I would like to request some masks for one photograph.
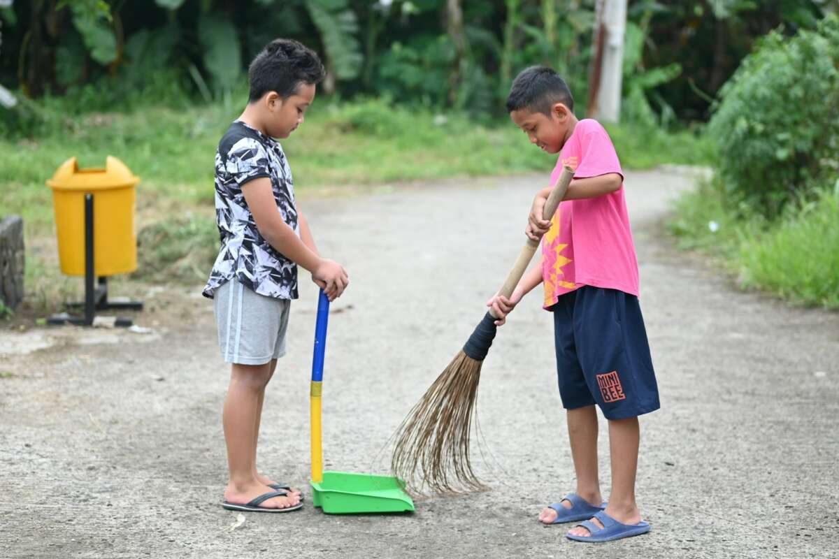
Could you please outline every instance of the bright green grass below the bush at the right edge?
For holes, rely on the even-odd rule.
[[[732,208],[715,182],[683,195],[668,223],[680,247],[713,256],[740,287],[792,303],[839,308],[839,191],[768,221]]]

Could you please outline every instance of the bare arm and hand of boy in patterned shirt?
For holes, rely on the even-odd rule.
[[[259,234],[290,261],[308,270],[315,283],[333,300],[340,297],[349,282],[347,272],[336,261],[320,258],[284,222],[274,201],[271,179],[260,177],[242,184],[242,194],[257,224]],[[308,230],[308,226],[306,227]],[[303,234],[303,231],[300,231]],[[309,232],[311,239],[311,232]],[[314,245],[314,241],[312,241]]]

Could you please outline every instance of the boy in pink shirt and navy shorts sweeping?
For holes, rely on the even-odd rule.
[[[550,221],[542,209],[550,187],[534,199],[525,233],[542,239],[539,265],[510,298],[488,303],[498,325],[524,294],[542,283],[543,307],[554,313],[560,398],[566,409],[576,492],[539,515],[544,524],[578,522],[566,535],[610,541],[649,531],[635,502],[638,416],[659,408],[644,318],[638,307],[638,261],[623,196],[623,171],[606,130],[578,121],[571,91],[550,68],[534,66],[513,81],[507,110],[530,142],[559,153],[575,169]],[[597,474],[597,411],[609,424],[612,494],[603,502]]]

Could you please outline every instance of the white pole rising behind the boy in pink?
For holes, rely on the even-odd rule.
[[[604,122],[619,122],[621,82],[623,78],[623,34],[627,23],[627,0],[606,0],[603,6],[606,40],[600,89],[597,92],[597,115]]]

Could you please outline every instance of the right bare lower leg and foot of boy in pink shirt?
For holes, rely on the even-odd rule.
[[[638,469],[640,427],[638,417],[609,420],[609,450],[612,453],[612,494],[606,514],[622,524],[638,524],[641,512],[635,503],[635,473]],[[600,520],[591,519],[602,527]],[[575,536],[588,536],[586,528],[569,531]]]

